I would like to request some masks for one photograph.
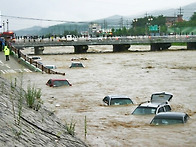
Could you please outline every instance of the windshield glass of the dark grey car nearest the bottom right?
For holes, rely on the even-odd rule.
[[[154,118],[151,124],[154,125],[172,125],[172,124],[181,124],[183,123],[182,119],[162,119],[162,118]]]

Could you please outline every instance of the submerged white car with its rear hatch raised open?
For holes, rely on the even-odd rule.
[[[149,115],[171,111],[171,107],[168,101],[170,101],[172,97],[172,94],[165,92],[152,94],[151,101],[139,104],[139,106],[132,112],[132,114]]]

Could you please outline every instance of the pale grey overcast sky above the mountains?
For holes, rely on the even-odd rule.
[[[2,15],[64,21],[92,21],[113,15],[132,16],[154,10],[180,8],[196,0],[1,0]],[[9,30],[45,27],[57,22],[9,20]]]

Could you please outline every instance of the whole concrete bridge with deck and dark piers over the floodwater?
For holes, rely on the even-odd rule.
[[[43,54],[44,47],[48,46],[74,46],[75,53],[85,53],[90,45],[113,45],[113,52],[126,51],[133,44],[150,44],[151,51],[168,49],[171,43],[186,43],[187,49],[196,49],[196,36],[137,36],[137,37],[114,37],[94,38],[91,40],[77,39],[75,41],[59,41],[57,39],[43,40],[16,40],[13,44],[16,48],[34,47],[35,54]]]

